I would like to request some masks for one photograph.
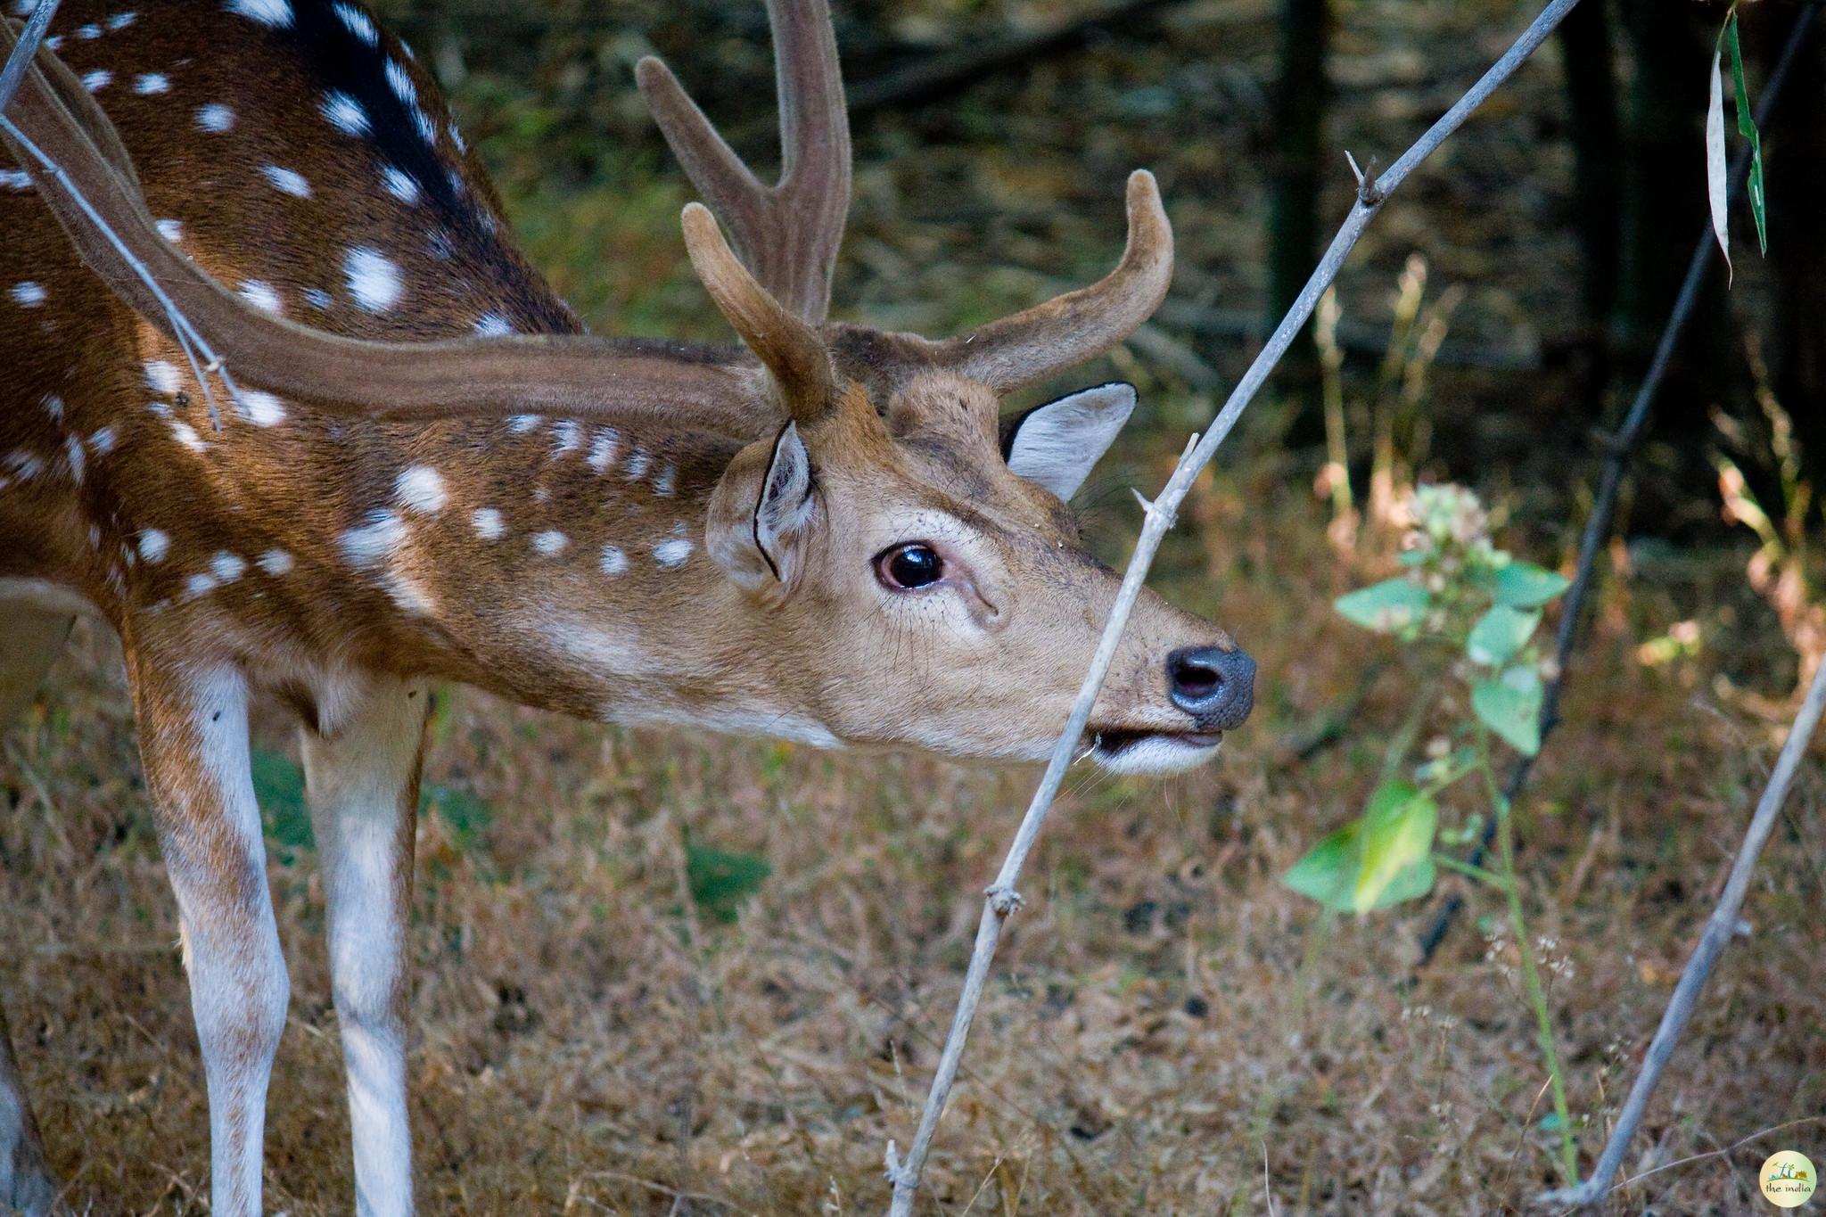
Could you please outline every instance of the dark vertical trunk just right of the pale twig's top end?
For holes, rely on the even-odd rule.
[[[1579,239],[1579,330],[1572,343],[1574,387],[1587,418],[1596,418],[1611,378],[1611,323],[1616,308],[1621,135],[1611,15],[1603,0],[1585,0],[1559,26],[1567,64],[1574,184],[1572,226]]]

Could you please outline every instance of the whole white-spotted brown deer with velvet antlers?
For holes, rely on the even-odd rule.
[[[1043,759],[1118,588],[1065,500],[1134,390],[999,403],[1132,334],[1172,237],[1138,172],[1127,248],[1092,286],[946,339],[831,321],[851,179],[836,40],[825,0],[771,0],[778,184],[665,66],[637,71],[708,203],[683,212],[685,252],[740,345],[592,338],[360,4],[137,2],[64,5],[0,122],[0,712],[75,613],[119,635],[219,1217],[259,1212],[289,1000],[248,702],[296,712],[356,1210],[405,1213],[429,684]],[[1222,629],[1145,593],[1085,752],[1118,772],[1207,761],[1253,679]],[[0,1201],[53,1197],[4,1047]]]

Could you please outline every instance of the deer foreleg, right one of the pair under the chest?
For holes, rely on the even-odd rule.
[[[429,701],[420,684],[376,681],[352,715],[325,733],[303,732],[360,1217],[413,1212],[405,923]]]

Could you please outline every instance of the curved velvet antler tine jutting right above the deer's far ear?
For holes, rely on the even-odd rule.
[[[940,367],[1013,392],[1094,359],[1154,316],[1172,281],[1172,226],[1147,170],[1128,175],[1128,244],[1116,270],[971,334],[933,343]]]

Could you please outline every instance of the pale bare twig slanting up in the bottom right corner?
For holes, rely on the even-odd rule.
[[[1737,918],[1744,909],[1744,896],[1749,892],[1749,879],[1757,870],[1757,859],[1762,856],[1762,847],[1769,841],[1775,817],[1788,799],[1788,788],[1795,781],[1800,757],[1808,752],[1808,741],[1813,739],[1813,730],[1821,723],[1822,710],[1826,710],[1826,664],[1821,664],[1813,673],[1813,684],[1808,686],[1808,695],[1795,713],[1795,724],[1788,728],[1788,743],[1782,744],[1782,755],[1775,761],[1769,785],[1762,788],[1762,797],[1757,801],[1757,814],[1749,819],[1744,847],[1738,848],[1737,861],[1731,863],[1731,878],[1724,885],[1724,894],[1718,896],[1718,905],[1713,909],[1711,920],[1705,921],[1700,945],[1693,949],[1693,958],[1687,960],[1687,967],[1680,973],[1680,983],[1674,985],[1674,996],[1669,998],[1667,1009],[1662,1013],[1662,1025],[1656,1027],[1654,1038],[1649,1042],[1649,1055],[1643,1056],[1642,1073],[1636,1075],[1636,1084],[1629,1087],[1629,1098],[1623,1100],[1623,1111],[1611,1131],[1611,1140],[1605,1142],[1603,1153],[1598,1155],[1598,1166],[1592,1168],[1583,1184],[1548,1191],[1541,1197],[1543,1202],[1579,1208],[1603,1199],[1611,1188],[1611,1179],[1623,1162],[1623,1149],[1629,1148],[1629,1139],[1636,1135],[1636,1126],[1642,1124],[1649,1095],[1654,1093],[1654,1084],[1662,1080],[1662,1069],[1667,1067],[1667,1058],[1674,1055],[1680,1033],[1687,1029],[1687,1022],[1693,1018],[1700,989],[1705,987],[1705,980],[1711,978],[1718,956],[1724,954],[1726,945],[1729,945],[1731,936],[1737,932]]]

